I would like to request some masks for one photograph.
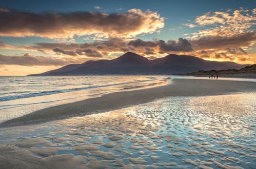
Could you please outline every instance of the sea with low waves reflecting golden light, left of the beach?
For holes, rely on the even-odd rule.
[[[0,76],[0,122],[103,94],[165,85],[166,76]]]

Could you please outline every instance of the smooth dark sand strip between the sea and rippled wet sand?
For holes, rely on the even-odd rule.
[[[30,125],[60,120],[75,116],[104,113],[111,110],[126,108],[168,96],[208,96],[235,92],[256,91],[255,82],[207,80],[207,79],[172,79],[165,86],[153,88],[120,91],[56,105],[54,107],[35,111],[0,123],[0,128],[19,125]]]

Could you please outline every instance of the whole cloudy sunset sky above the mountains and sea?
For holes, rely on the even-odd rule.
[[[256,64],[256,1],[0,1],[0,75],[130,51]]]

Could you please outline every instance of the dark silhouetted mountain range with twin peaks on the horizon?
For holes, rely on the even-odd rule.
[[[170,54],[149,60],[127,52],[112,60],[89,60],[83,64],[71,64],[62,68],[33,75],[160,75],[190,73],[199,70],[241,69],[231,61],[209,61],[195,56]]]

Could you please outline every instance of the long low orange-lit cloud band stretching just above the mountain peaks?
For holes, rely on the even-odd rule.
[[[246,36],[240,37],[242,39],[246,39]],[[230,43],[228,43],[228,41],[230,41]],[[232,41],[233,40],[231,39],[227,39],[227,41],[225,41],[223,37],[221,37],[221,39],[212,37],[211,40],[202,38],[196,41],[189,41],[182,38],[180,38],[178,41],[164,41],[160,39],[145,41],[142,39],[127,40],[123,38],[111,38],[108,40],[94,41],[92,43],[83,44],[36,43],[35,45],[26,45],[13,48],[23,49],[26,51],[39,51],[41,53],[48,54],[55,51],[58,53],[58,55],[55,56],[56,58],[62,58],[62,55],[66,55],[67,57],[65,60],[67,60],[69,63],[81,63],[85,61],[85,59],[89,59],[89,57],[90,59],[101,59],[103,57],[104,59],[113,59],[125,52],[131,51],[146,57],[150,57],[151,59],[162,57],[170,53],[176,53],[193,55],[208,60],[237,61],[242,64],[254,64],[256,61],[256,55],[246,52],[240,47],[241,44],[235,46],[236,43],[234,43],[234,45],[232,45]],[[4,43],[1,44],[3,46],[7,46]],[[0,48],[2,48],[1,44]],[[9,46],[8,49],[11,49],[10,47],[11,46]],[[70,57],[70,55],[72,57]],[[246,59],[239,59],[238,57],[244,57]]]

